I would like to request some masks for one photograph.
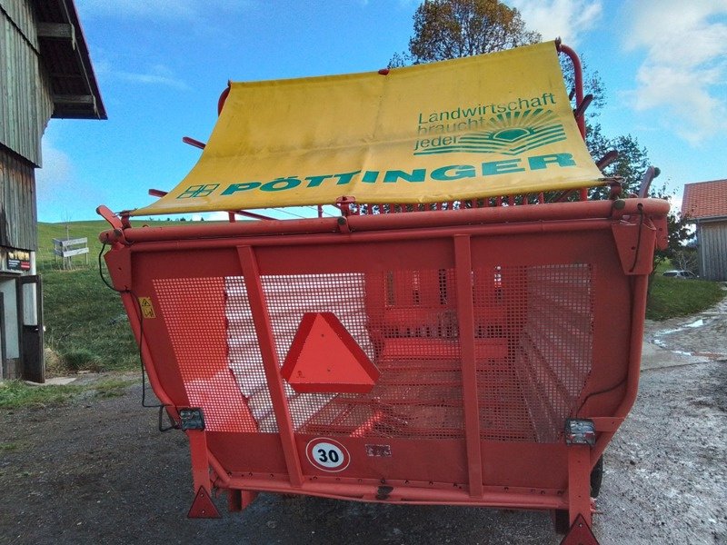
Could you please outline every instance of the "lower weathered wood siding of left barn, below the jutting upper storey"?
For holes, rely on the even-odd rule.
[[[0,146],[0,246],[37,249],[35,168]]]

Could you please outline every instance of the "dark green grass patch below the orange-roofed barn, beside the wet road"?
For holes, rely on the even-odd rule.
[[[722,301],[725,292],[719,282],[667,278],[661,272],[652,277],[646,317],[666,320],[702,312]]]

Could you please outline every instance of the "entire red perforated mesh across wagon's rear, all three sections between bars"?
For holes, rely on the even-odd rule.
[[[591,369],[593,271],[587,265],[473,271],[481,437],[557,441]],[[261,278],[279,363],[305,312],[334,312],[381,371],[366,394],[296,393],[303,433],[463,438],[453,270]],[[156,281],[190,403],[214,431],[275,432],[243,277]],[[194,334],[200,332],[204,334]]]

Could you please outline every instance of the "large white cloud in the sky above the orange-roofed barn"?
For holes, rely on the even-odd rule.
[[[726,130],[727,0],[631,0],[624,11],[626,51],[646,53],[633,108],[666,108],[662,121],[691,144]]]

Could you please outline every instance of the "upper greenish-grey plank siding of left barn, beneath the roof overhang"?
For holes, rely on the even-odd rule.
[[[40,141],[53,114],[29,0],[0,0],[0,144],[41,166]]]

